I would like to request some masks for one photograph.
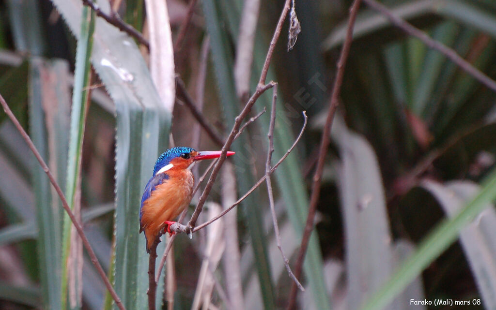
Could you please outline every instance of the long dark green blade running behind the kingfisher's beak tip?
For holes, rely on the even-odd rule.
[[[211,55],[215,66],[220,98],[224,107],[227,124],[231,127],[234,124],[235,117],[239,113],[236,108],[236,103],[239,102],[239,99],[236,96],[234,85],[233,59],[231,57],[230,45],[225,33],[221,31],[222,21],[219,19],[217,5],[213,0],[206,0],[203,2],[203,11],[205,12],[207,31],[211,40]],[[243,146],[247,145],[246,136],[240,136],[232,145],[232,149],[239,154],[233,158],[236,164],[236,170],[238,173],[244,171],[243,177],[237,180],[238,191],[240,193],[246,193],[251,187],[251,184],[254,183],[248,161],[240,156],[246,153]],[[262,222],[261,204],[256,202],[253,195],[250,195],[242,203],[242,207],[248,220],[247,225],[252,241],[263,304],[266,310],[275,309],[275,294],[268,260],[265,231],[259,225]]]

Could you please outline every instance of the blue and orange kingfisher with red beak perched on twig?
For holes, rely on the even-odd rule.
[[[221,153],[176,147],[158,157],[152,177],[145,186],[139,210],[139,232],[145,232],[146,252],[150,253],[162,229],[167,228],[170,232],[169,226],[175,223],[173,220],[191,202],[194,179],[190,169],[194,162],[217,158]],[[227,152],[227,156],[234,154]]]

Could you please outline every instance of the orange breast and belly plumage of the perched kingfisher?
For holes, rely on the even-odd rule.
[[[153,245],[165,221],[172,221],[189,205],[193,192],[193,175],[188,169],[167,171],[169,179],[155,187],[142,207],[141,227],[147,248]]]

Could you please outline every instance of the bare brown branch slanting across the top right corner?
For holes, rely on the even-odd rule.
[[[392,13],[386,6],[380,4],[379,2],[375,0],[364,0],[364,2],[372,9],[378,11],[380,14],[384,15],[387,19],[389,19],[391,24],[400,28],[407,34],[418,38],[431,49],[441,52],[446,57],[451,59],[451,61],[456,63],[460,68],[462,68],[462,70],[472,75],[475,79],[477,79],[482,84],[486,85],[489,89],[496,92],[496,82],[493,79],[491,79],[489,76],[481,72],[479,69],[474,67],[470,62],[463,59],[453,49],[448,48],[447,46],[445,46],[444,44],[438,41],[435,41],[422,30],[415,28],[414,26],[412,26],[412,24],[409,24],[403,19],[395,16],[394,13]]]

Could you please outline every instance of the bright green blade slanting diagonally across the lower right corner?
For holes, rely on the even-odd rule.
[[[362,310],[379,310],[398,295],[424,268],[446,250],[460,231],[473,221],[496,198],[496,169],[482,184],[482,190],[456,215],[439,223],[407,258],[391,279],[364,305]]]

